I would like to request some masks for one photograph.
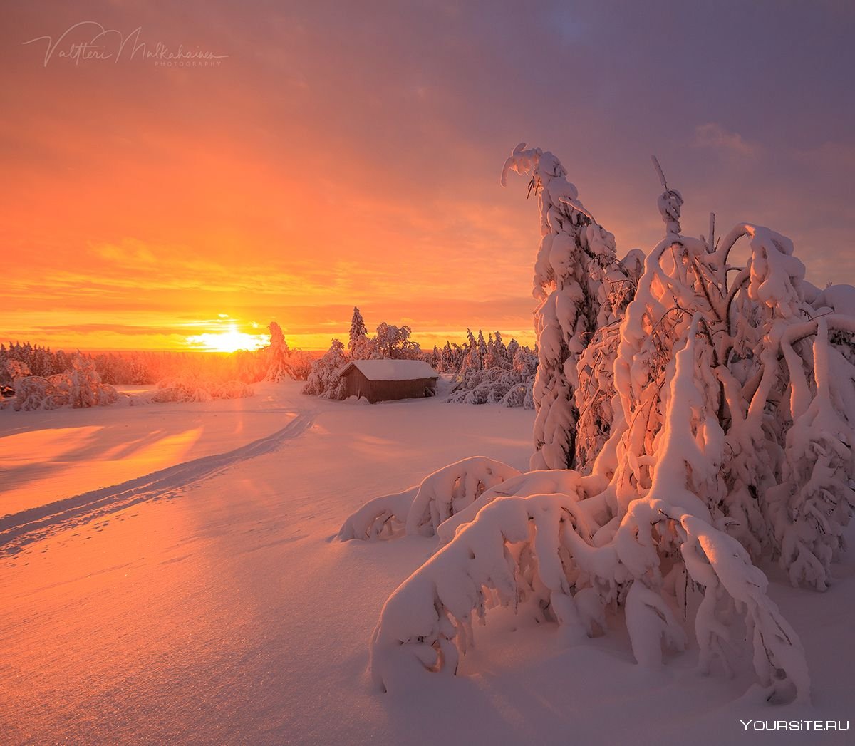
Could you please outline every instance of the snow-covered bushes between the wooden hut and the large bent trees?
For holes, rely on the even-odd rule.
[[[466,330],[467,341],[457,369],[453,370],[457,387],[446,401],[455,404],[500,404],[534,408],[534,371],[537,355],[521,347],[516,340],[505,346],[501,333],[489,335],[484,340],[481,329],[478,337]],[[443,356],[445,354],[445,360]],[[449,370],[456,357],[446,342],[439,353],[440,370]]]

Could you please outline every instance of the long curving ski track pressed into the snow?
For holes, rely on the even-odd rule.
[[[93,489],[49,505],[0,518],[0,557],[18,554],[27,544],[124,510],[139,502],[158,500],[212,477],[241,461],[271,453],[310,429],[316,411],[301,411],[284,428],[227,453],[185,461],[112,487]]]

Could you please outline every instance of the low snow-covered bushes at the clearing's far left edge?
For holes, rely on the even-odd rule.
[[[11,406],[15,411],[50,410],[61,406],[76,409],[115,404],[119,394],[115,388],[101,382],[91,358],[73,355],[69,369],[50,376],[33,376],[27,364],[15,359],[6,361],[15,396]]]

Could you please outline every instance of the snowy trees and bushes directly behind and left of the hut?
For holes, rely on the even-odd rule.
[[[377,327],[376,335],[370,337],[362,313],[354,307],[347,349],[340,340],[333,340],[327,352],[312,363],[303,393],[324,399],[344,399],[345,384],[339,371],[351,360],[380,358],[422,360],[425,356],[418,343],[410,339],[410,327],[398,328],[383,322]]]

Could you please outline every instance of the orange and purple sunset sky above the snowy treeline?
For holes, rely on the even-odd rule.
[[[663,234],[655,153],[687,233],[768,225],[815,284],[855,282],[852,3],[0,7],[2,340],[174,349],[276,320],[320,349],[359,305],[423,346],[531,343],[536,206],[498,183],[522,140],[621,254]]]

